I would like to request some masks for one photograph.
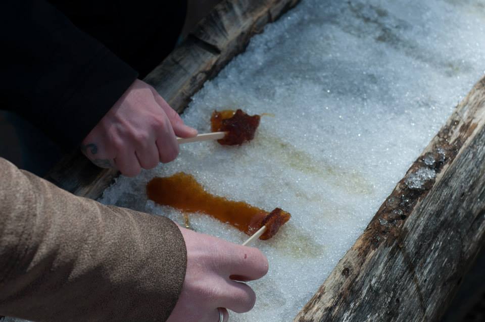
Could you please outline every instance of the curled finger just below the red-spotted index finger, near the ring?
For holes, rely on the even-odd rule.
[[[256,303],[256,293],[244,283],[226,280],[222,292],[217,299],[218,305],[236,313],[248,312]]]

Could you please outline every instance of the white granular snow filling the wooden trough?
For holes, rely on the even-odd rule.
[[[230,321],[291,321],[485,73],[484,29],[479,0],[303,0],[183,114],[201,133],[214,109],[270,114],[254,141],[185,144],[174,162],[120,177],[101,201],[183,225],[178,211],[146,201],[145,185],[184,171],[211,193],[289,211],[273,239],[254,244],[270,262],[268,275],[250,283],[254,309]],[[248,237],[202,214],[190,224],[235,243]]]

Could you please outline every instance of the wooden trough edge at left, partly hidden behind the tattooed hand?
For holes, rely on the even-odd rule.
[[[145,79],[181,113],[210,78],[238,53],[250,38],[278,19],[300,0],[225,0],[203,19],[195,31]],[[95,167],[76,150],[45,176],[78,196],[99,198],[118,176],[115,170]]]

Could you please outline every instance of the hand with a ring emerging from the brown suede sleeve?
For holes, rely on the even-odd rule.
[[[243,313],[256,294],[237,281],[257,280],[268,272],[268,260],[257,248],[229,243],[179,227],[187,247],[187,270],[180,297],[167,322],[218,322],[221,307]]]

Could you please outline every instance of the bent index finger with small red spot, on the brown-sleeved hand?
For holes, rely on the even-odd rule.
[[[268,259],[259,249],[236,244],[222,249],[220,267],[231,279],[253,281],[268,273]]]

